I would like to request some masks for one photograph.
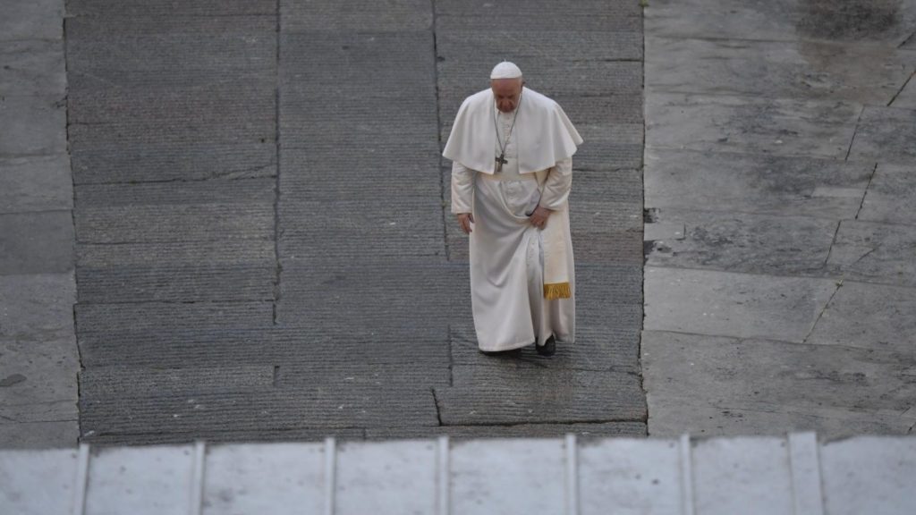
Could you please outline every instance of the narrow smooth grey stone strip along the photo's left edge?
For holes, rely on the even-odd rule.
[[[79,434],[63,2],[0,2],[0,447]]]

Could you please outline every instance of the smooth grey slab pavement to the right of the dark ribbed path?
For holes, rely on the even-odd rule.
[[[645,16],[649,434],[913,433],[916,2]]]

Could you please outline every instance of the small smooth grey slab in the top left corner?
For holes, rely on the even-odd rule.
[[[0,39],[57,39],[63,37],[60,20],[64,16],[64,0],[7,2],[5,16],[0,20]]]

